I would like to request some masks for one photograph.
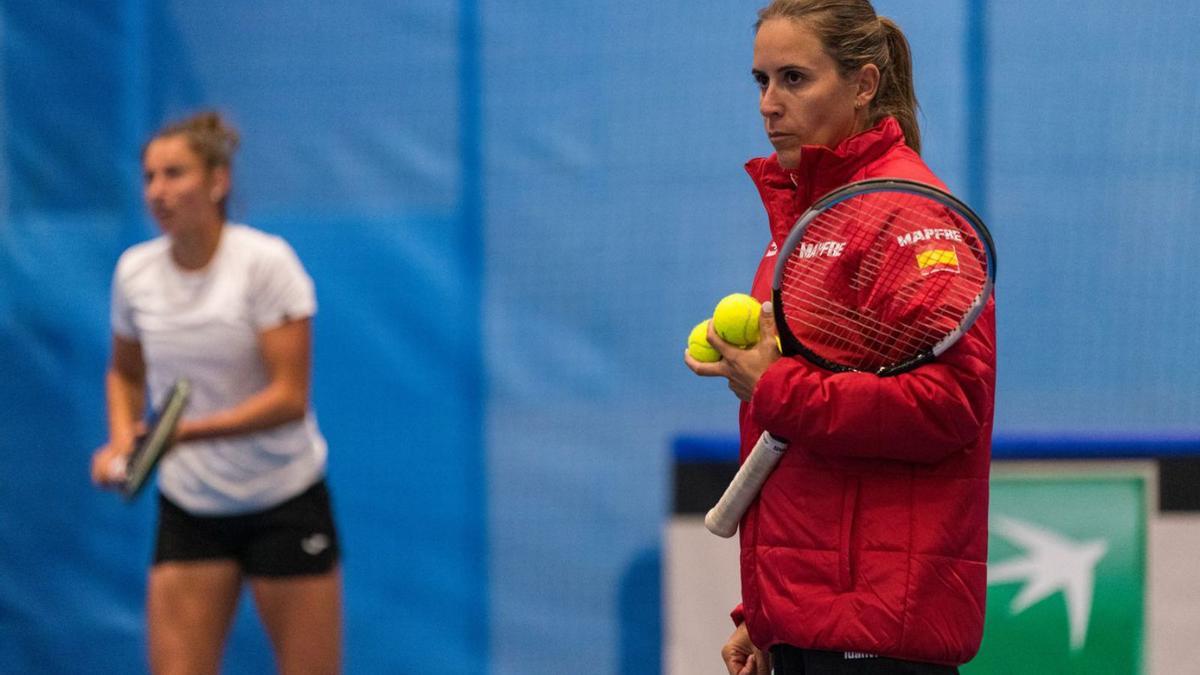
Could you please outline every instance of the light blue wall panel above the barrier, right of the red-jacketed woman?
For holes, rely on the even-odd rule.
[[[990,4],[997,426],[1200,429],[1200,7]]]

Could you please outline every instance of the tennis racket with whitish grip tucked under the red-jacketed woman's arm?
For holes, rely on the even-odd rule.
[[[775,262],[785,357],[888,377],[928,363],[971,328],[996,281],[991,234],[966,204],[901,179],[852,183],[800,216]],[[787,441],[763,431],[704,525],[731,537]]]

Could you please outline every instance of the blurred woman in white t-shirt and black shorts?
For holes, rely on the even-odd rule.
[[[162,237],[113,277],[109,441],[92,479],[112,486],[148,399],[192,383],[158,471],[146,599],[156,673],[216,673],[244,581],[282,673],[335,673],[341,573],[325,441],[308,406],[312,280],[281,238],[226,221],[238,135],[215,113],[156,133],[144,198]]]

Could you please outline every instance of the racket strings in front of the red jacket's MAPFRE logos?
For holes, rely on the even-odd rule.
[[[814,219],[788,253],[782,311],[822,358],[876,370],[961,325],[986,287],[986,264],[973,228],[940,202],[859,195]]]

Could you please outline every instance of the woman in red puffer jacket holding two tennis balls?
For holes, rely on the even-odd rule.
[[[918,155],[908,44],[892,20],[868,0],[776,0],[758,18],[754,77],[775,154],[746,171],[770,222],[751,288],[766,300],[778,246],[822,195],[865,178],[942,184]],[[743,458],[763,430],[791,441],[742,521],[726,668],[956,673],[983,637],[991,301],[940,359],[894,377],[780,358],[769,304],[761,328],[751,350],[709,330],[720,362],[685,357],[742,400]]]

